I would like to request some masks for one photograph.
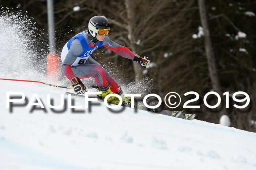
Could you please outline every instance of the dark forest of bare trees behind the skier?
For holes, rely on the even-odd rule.
[[[108,36],[113,41],[151,60],[150,68],[143,72],[135,62],[106,48],[99,49],[94,57],[100,63],[121,65],[117,68],[120,79],[128,83],[135,81],[136,76],[139,79],[147,77],[153,86],[147,94],[154,92],[164,99],[167,93],[177,92],[182,96],[181,107],[187,100],[195,98],[183,94],[195,91],[200,99],[190,105],[200,105],[200,109],[185,109],[184,112],[197,113],[196,119],[213,123],[219,123],[221,115],[226,114],[231,126],[256,132],[256,1],[206,0],[203,7],[200,6],[202,2],[54,0],[57,54],[60,55],[62,47],[72,36],[87,29],[91,17],[104,15],[110,21]],[[0,5],[33,17],[47,38],[46,0],[0,0]],[[74,10],[78,8],[78,11]],[[206,11],[208,30],[204,31],[209,33],[211,46],[206,43],[207,36],[202,35],[200,10]],[[212,48],[210,58],[207,48]],[[209,60],[212,58],[214,60]],[[214,65],[215,78],[210,74]],[[115,78],[118,79],[118,75]],[[216,82],[219,86],[215,86]],[[244,91],[251,101],[248,107],[238,109],[233,107],[235,102],[230,96],[230,108],[225,108],[222,99],[222,107],[209,109],[202,103],[209,91],[217,91],[221,96],[226,91],[231,95]],[[240,97],[244,98],[243,95]],[[215,105],[217,98],[212,99],[208,102]],[[161,108],[169,109],[165,104]]]

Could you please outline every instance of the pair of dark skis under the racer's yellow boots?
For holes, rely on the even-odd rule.
[[[75,93],[71,93],[71,92],[66,92],[65,95],[70,94],[71,96],[75,96],[78,98],[84,98],[83,95],[80,94],[75,94]],[[88,98],[98,98],[96,95],[93,96],[88,96]],[[98,98],[98,101],[103,102],[102,98]],[[122,105],[123,107],[128,107],[127,105]],[[153,112],[153,113],[157,113],[157,114],[162,114],[162,115],[167,115],[167,116],[173,116],[176,118],[181,118],[181,119],[186,119],[186,120],[193,120],[196,116],[196,114],[185,114],[182,113],[183,110],[181,111],[171,111],[171,110],[163,110],[163,109],[158,109],[158,108],[147,108],[145,106],[141,106],[141,105],[135,105],[135,109],[139,109],[139,110],[144,110],[144,111],[148,111],[148,112]]]

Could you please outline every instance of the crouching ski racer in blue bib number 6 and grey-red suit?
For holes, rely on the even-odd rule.
[[[101,46],[104,46],[124,58],[138,62],[140,66],[148,68],[150,60],[148,57],[140,57],[133,54],[128,48],[110,40],[107,36],[110,30],[108,19],[103,16],[94,16],[90,19],[88,30],[72,37],[61,51],[61,68],[69,80],[71,80],[74,92],[85,94],[86,87],[80,79],[94,77],[98,90],[102,92],[104,99],[108,94],[115,93],[124,100],[124,94],[117,82],[109,73],[93,58],[91,54]],[[129,98],[127,100],[130,100]],[[118,104],[119,99],[110,97],[108,102]]]

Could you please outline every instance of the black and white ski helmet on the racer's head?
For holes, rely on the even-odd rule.
[[[104,16],[94,16],[88,24],[91,36],[96,37],[99,28],[110,28],[109,21]]]

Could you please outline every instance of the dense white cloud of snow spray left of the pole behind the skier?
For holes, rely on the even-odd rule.
[[[33,18],[0,6],[2,78],[44,80],[48,46]]]

